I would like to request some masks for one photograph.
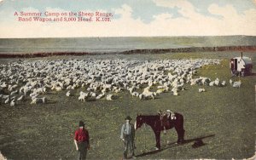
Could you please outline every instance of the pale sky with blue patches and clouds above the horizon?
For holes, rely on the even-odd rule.
[[[100,22],[95,17],[92,22],[18,21],[20,12],[46,11],[113,17]],[[226,35],[256,36],[256,0],[0,0],[0,38]]]

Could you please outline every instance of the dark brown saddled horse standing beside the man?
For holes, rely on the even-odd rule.
[[[139,129],[143,123],[148,124],[154,131],[156,147],[160,149],[160,132],[164,129],[172,129],[177,132],[177,143],[183,143],[185,130],[183,129],[183,115],[174,113],[175,118],[160,117],[160,115],[138,115],[135,122],[135,129]],[[165,127],[165,128],[164,128]]]

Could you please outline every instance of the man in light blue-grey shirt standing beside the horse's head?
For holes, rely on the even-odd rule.
[[[124,158],[127,159],[128,150],[130,149],[132,157],[134,157],[134,138],[135,138],[135,129],[134,125],[130,123],[131,117],[125,117],[125,124],[122,125],[120,139],[125,143]]]

